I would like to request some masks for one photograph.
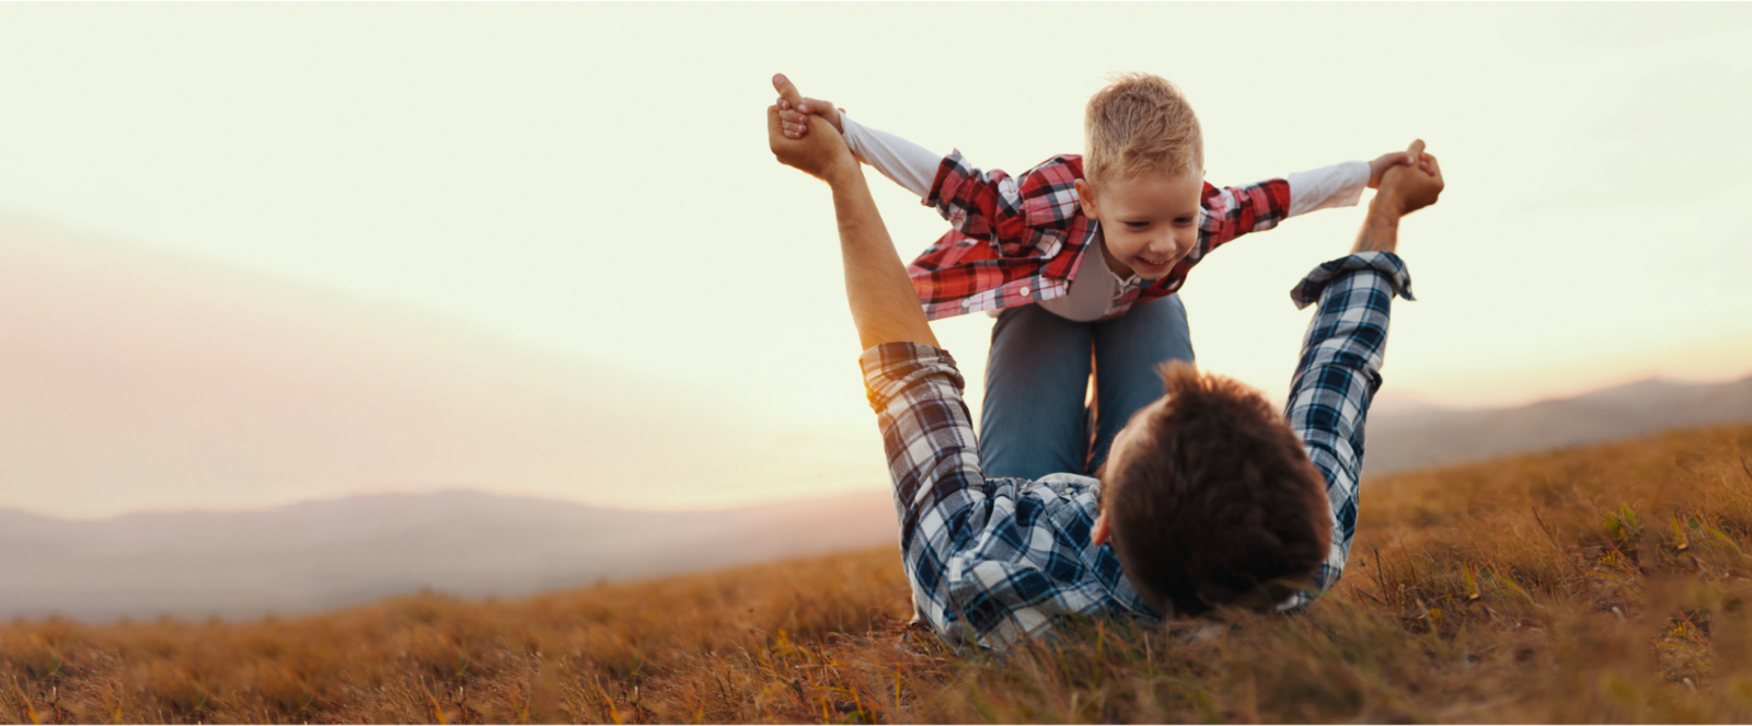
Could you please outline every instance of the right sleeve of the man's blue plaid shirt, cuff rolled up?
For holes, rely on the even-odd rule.
[[[1363,421],[1388,351],[1393,296],[1412,298],[1410,274],[1393,253],[1360,253],[1319,265],[1289,291],[1298,309],[1318,303],[1289,382],[1284,416],[1326,477],[1332,503],[1332,551],[1319,589],[1339,582],[1356,533]],[[1305,605],[1307,596],[1296,605]]]

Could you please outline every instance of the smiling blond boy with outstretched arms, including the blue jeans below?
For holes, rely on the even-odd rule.
[[[997,312],[981,416],[981,440],[999,444],[981,451],[993,477],[1099,470],[1125,421],[1155,400],[1156,363],[1193,359],[1174,296],[1193,265],[1284,217],[1354,205],[1389,167],[1414,161],[1402,151],[1218,189],[1204,181],[1198,119],[1181,91],[1127,74],[1090,98],[1086,156],[1011,179],[865,128],[781,75],[774,88],[787,139],[822,116],[853,156],[953,224],[908,274],[929,319]]]

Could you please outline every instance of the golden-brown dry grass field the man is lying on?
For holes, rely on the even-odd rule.
[[[0,626],[14,722],[1752,721],[1752,426],[1372,479],[1307,616],[906,626],[894,549],[519,601]]]

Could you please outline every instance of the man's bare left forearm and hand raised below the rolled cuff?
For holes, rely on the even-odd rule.
[[[774,84],[787,84],[783,75]],[[918,305],[918,293],[906,265],[894,249],[888,228],[876,212],[864,170],[844,139],[820,116],[809,116],[809,133],[788,139],[778,105],[767,107],[767,146],[781,163],[827,182],[839,221],[839,256],[846,274],[846,302],[864,349],[885,342],[937,345],[937,337]]]

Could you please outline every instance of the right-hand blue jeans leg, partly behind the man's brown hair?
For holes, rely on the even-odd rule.
[[[1162,398],[1156,367],[1169,359],[1193,361],[1191,330],[1179,295],[1135,305],[1111,321],[1095,323],[1095,447],[1090,472],[1107,461],[1113,437],[1137,409]]]

